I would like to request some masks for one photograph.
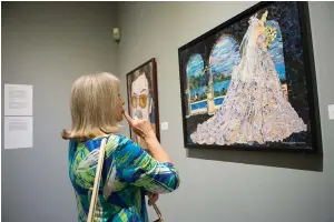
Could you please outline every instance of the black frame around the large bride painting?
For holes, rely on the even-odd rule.
[[[179,58],[179,83],[180,83],[180,100],[181,100],[181,114],[183,114],[183,132],[184,132],[184,147],[187,149],[218,149],[218,150],[243,150],[243,151],[283,151],[283,152],[302,152],[302,153],[320,153],[322,152],[322,133],[321,133],[321,120],[320,120],[320,109],[318,109],[318,97],[317,97],[317,84],[315,77],[315,67],[314,67],[314,57],[313,57],[313,46],[312,46],[312,34],[310,26],[310,12],[307,2],[295,2],[298,10],[298,22],[299,22],[299,34],[301,34],[301,44],[303,49],[303,64],[304,64],[304,74],[306,81],[307,90],[307,103],[308,103],[308,123],[307,123],[307,133],[312,138],[311,145],[308,147],[264,147],[264,145],[216,145],[216,144],[197,144],[189,143],[188,135],[190,132],[187,130],[187,109],[188,102],[185,102],[186,95],[186,83],[184,78],[186,73],[186,62],[184,61],[183,53],[191,48],[205,42],[209,38],[217,33],[222,33],[222,30],[227,27],[235,24],[244,19],[249,19],[250,16],[256,12],[271,7],[272,4],[281,2],[259,2],[249,9],[243,11],[242,13],[235,16],[234,18],[225,21],[224,23],[217,26],[216,28],[209,30],[208,32],[199,36],[193,41],[186,43],[185,46],[178,49]],[[282,2],[284,3],[284,2]],[[206,46],[204,46],[206,47]]]

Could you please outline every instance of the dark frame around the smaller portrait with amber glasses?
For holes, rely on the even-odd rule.
[[[149,67],[149,69],[146,69],[147,67]],[[149,75],[147,79],[149,80],[149,93],[153,98],[154,101],[154,129],[155,129],[155,133],[156,137],[158,139],[158,141],[160,142],[160,120],[159,120],[159,100],[158,100],[158,77],[157,77],[157,62],[155,58],[149,59],[148,61],[144,62],[143,64],[138,65],[137,68],[135,68],[134,70],[131,70],[130,72],[128,72],[126,74],[126,79],[127,79],[127,101],[128,101],[128,112],[130,115],[132,115],[131,112],[131,102],[130,102],[130,89],[131,87],[129,85],[131,82],[131,75],[136,74],[136,72],[139,71],[148,71],[150,73],[147,73],[147,75]],[[135,132],[132,132],[132,130],[130,129],[130,138],[134,139]],[[135,140],[136,141],[136,140]]]

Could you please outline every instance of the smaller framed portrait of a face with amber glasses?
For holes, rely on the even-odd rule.
[[[154,58],[127,73],[127,95],[131,118],[149,120],[160,141],[157,63]],[[147,148],[132,130],[130,138],[141,148]]]

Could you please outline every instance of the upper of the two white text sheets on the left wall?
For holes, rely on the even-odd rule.
[[[4,84],[4,115],[32,115],[32,85]]]

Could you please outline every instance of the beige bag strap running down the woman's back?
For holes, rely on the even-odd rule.
[[[106,141],[107,141],[107,139],[104,138],[101,141],[101,145],[100,145],[100,154],[99,154],[99,160],[98,160],[98,164],[96,168],[96,175],[95,175],[95,181],[94,181],[94,188],[92,188],[92,193],[91,193],[91,199],[90,199],[90,204],[89,204],[89,213],[88,213],[87,222],[94,221],[95,208],[96,208],[96,203],[97,203],[97,199],[98,199],[98,191],[99,191],[99,186],[100,186],[101,172],[102,172],[104,161],[105,161]]]

